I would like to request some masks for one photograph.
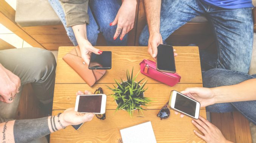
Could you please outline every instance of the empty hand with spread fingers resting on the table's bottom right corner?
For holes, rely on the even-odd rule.
[[[199,116],[199,119],[191,121],[204,135],[199,134],[196,130],[194,133],[207,143],[226,143],[230,142],[222,135],[221,131],[210,123],[208,120]]]

